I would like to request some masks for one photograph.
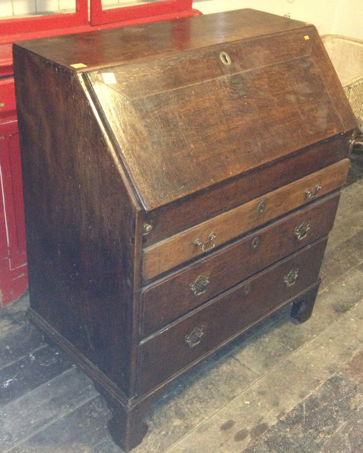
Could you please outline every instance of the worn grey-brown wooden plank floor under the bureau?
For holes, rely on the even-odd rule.
[[[343,190],[321,277],[308,322],[286,308],[176,381],[133,451],[362,453],[362,179]],[[0,452],[121,452],[103,398],[28,306],[24,295],[0,311]]]

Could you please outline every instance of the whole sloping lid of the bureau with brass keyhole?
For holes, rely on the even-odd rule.
[[[119,72],[107,68],[117,83],[101,81],[100,72],[87,74],[99,99],[100,114],[112,130],[147,211],[342,130],[319,67],[309,58],[307,34],[309,29],[294,34],[296,51],[287,34],[272,43],[258,39],[254,43],[260,48],[257,58],[250,43],[237,41],[227,47],[131,64]],[[268,52],[275,49],[274,43],[280,54]],[[224,49],[231,53],[232,63],[227,67],[220,58]],[[266,53],[271,57],[265,57]],[[196,63],[199,57],[201,63]],[[189,66],[198,69],[194,83],[180,75],[188,73]],[[127,75],[135,72],[150,74],[145,80],[147,89],[129,88],[133,80]],[[165,72],[170,77],[163,84],[159,81],[165,79]],[[211,105],[220,108],[211,111]],[[261,126],[258,137],[257,121]]]

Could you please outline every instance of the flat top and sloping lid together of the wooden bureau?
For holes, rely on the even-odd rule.
[[[146,211],[356,126],[311,24],[248,9],[223,18],[218,34],[217,17],[192,17],[17,44],[68,70],[85,65]]]

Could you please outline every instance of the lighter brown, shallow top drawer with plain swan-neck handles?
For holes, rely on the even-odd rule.
[[[144,281],[155,279],[185,261],[339,188],[345,182],[348,169],[349,160],[341,160],[165,241],[146,247],[142,260]]]

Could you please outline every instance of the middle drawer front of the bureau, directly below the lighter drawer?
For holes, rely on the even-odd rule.
[[[340,193],[329,195],[151,284],[141,296],[141,336],[150,335],[249,275],[328,234],[339,197]]]

